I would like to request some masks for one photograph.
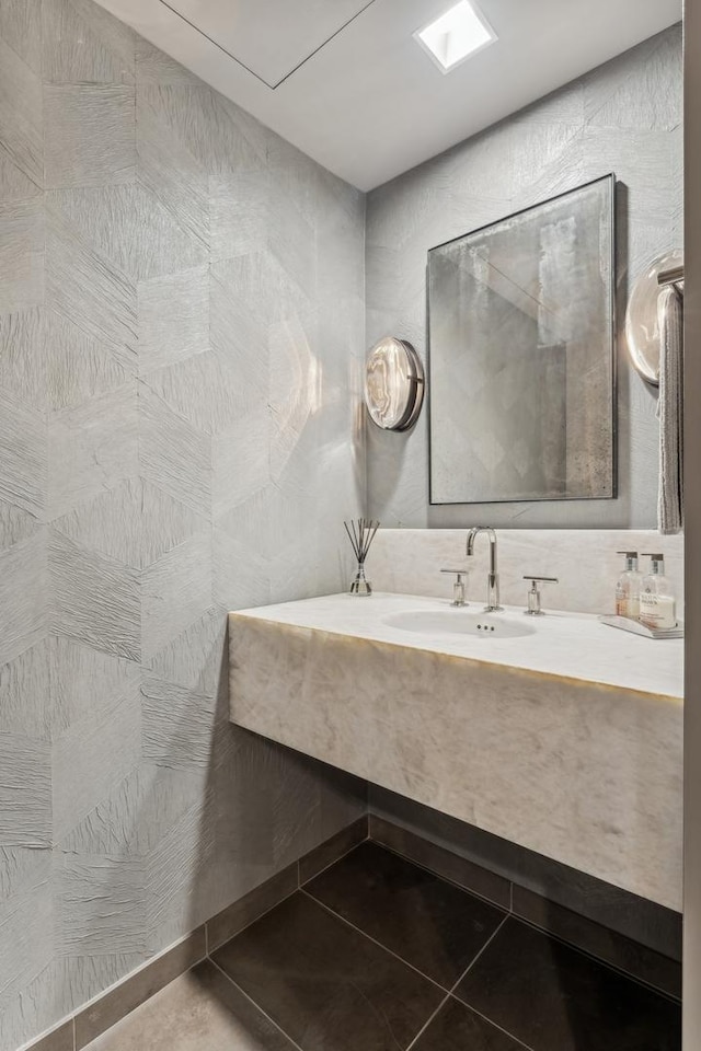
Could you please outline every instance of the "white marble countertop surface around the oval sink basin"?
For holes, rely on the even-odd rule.
[[[449,610],[459,617],[480,613],[482,607],[471,603],[455,609],[446,600],[411,594],[376,592],[358,598],[344,593],[237,610],[231,615],[448,654],[469,661],[637,693],[683,696],[683,639],[648,639],[608,627],[590,614],[556,612],[529,617],[533,634],[516,638],[417,634],[384,623],[386,617],[407,610]],[[514,607],[491,615],[518,623],[525,620],[522,609]]]

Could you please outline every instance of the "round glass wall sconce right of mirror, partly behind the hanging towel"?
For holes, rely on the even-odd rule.
[[[676,249],[650,263],[633,286],[625,311],[625,343],[635,371],[646,383],[659,386],[659,321],[657,303],[662,291],[657,277],[680,267],[683,254]]]

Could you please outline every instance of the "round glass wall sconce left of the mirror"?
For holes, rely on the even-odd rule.
[[[365,404],[382,430],[407,430],[424,401],[424,368],[411,343],[386,336],[365,363]]]

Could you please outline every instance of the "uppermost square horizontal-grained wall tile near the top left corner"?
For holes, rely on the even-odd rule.
[[[134,182],[134,89],[103,84],[44,88],[47,188]]]

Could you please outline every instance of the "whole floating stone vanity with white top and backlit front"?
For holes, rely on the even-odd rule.
[[[406,594],[229,622],[237,725],[681,908],[681,639]]]

